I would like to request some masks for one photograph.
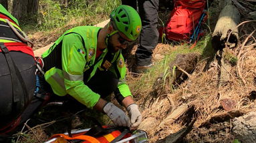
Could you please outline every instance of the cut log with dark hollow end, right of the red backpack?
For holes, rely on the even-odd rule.
[[[219,15],[219,20],[215,26],[215,30],[213,32],[213,47],[215,49],[223,49],[225,48],[225,43],[227,42],[227,38],[229,32],[232,30],[233,33],[231,37],[229,37],[229,47],[237,46],[238,42],[238,29],[237,24],[240,21],[240,13],[237,8],[231,4],[231,1],[227,1],[227,5],[221,11]]]

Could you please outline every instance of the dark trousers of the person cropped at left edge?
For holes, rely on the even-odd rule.
[[[9,55],[11,55],[13,63],[21,73],[27,89],[27,96],[21,90],[16,95],[19,96],[19,100],[13,102],[13,88],[17,87],[13,86],[9,65],[3,53],[0,53],[0,129],[19,118],[21,112],[27,106],[24,103],[25,100],[31,100],[35,90],[35,61],[33,57],[16,51],[9,52]]]

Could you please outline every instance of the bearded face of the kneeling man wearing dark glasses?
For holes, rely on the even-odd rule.
[[[108,41],[108,50],[111,51],[111,53],[116,53],[119,50],[126,49],[127,45],[132,42],[133,41],[128,39],[126,35],[118,32],[110,37]]]

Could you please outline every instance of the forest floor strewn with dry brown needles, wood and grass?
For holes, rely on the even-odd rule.
[[[214,11],[214,14],[209,17],[211,31],[215,28],[221,11],[219,7],[221,5],[218,3],[213,3],[210,7],[211,11]],[[168,18],[166,13],[160,13],[163,21]],[[66,28],[70,28],[70,25],[72,23],[68,24]],[[249,31],[251,31],[250,28],[243,27],[243,32],[249,33]],[[31,35],[35,49],[54,42],[59,37],[54,33],[52,31],[49,34],[51,36],[42,33]],[[138,76],[134,76],[132,72],[136,46],[133,47],[126,61],[129,69],[127,82],[142,111],[143,118],[139,129],[148,133],[150,142],[160,142],[161,139],[170,136],[170,134],[186,128],[191,122],[193,127],[184,136],[182,142],[228,143],[235,140],[236,137],[233,134],[235,118],[256,110],[256,49],[255,45],[252,44],[241,48],[241,44],[246,38],[244,35],[239,33],[240,46],[238,45],[235,49],[225,49],[226,54],[222,55],[222,59],[218,56],[220,55],[219,51],[215,51],[211,47],[211,36],[202,39],[203,44],[197,47],[198,49],[202,48],[202,52],[190,51],[189,45],[159,43],[153,54],[153,61],[156,65],[152,71]],[[182,53],[182,51],[185,52]],[[157,64],[164,61],[166,55],[173,53],[176,55],[172,61],[165,63],[169,67],[166,71],[170,73],[166,75],[166,71],[159,71],[157,66],[160,65]],[[234,64],[230,55],[239,55],[238,53],[241,53],[240,57],[235,57],[239,62]],[[220,70],[220,62],[222,63],[222,71],[224,69],[225,73]],[[173,84],[172,66],[182,67],[185,65],[186,67],[188,63],[193,65],[193,69],[188,73],[180,73],[181,76]],[[220,80],[220,74],[225,74],[225,78]],[[139,82],[140,84],[148,83],[144,86],[138,85]],[[110,97],[110,100],[115,102],[113,97]],[[53,106],[46,106],[31,118],[33,120],[29,125],[31,130],[24,131],[27,136],[20,134],[22,130],[16,134],[20,137],[18,140],[21,142],[43,142],[51,134],[67,132],[70,128],[67,126],[69,122],[72,122],[72,129],[89,128],[92,122],[82,118],[82,114],[94,116],[102,124],[112,124],[106,115],[96,115],[97,112],[87,109],[81,113],[76,107],[74,104],[68,104],[66,108],[63,106],[54,106],[54,108]],[[70,116],[74,118],[71,120],[68,118]]]

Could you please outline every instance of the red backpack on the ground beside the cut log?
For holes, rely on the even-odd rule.
[[[200,25],[206,13],[205,0],[176,0],[174,9],[166,22],[166,27],[160,29],[160,36],[173,41],[195,41],[199,35]],[[164,31],[164,32],[163,32]]]

